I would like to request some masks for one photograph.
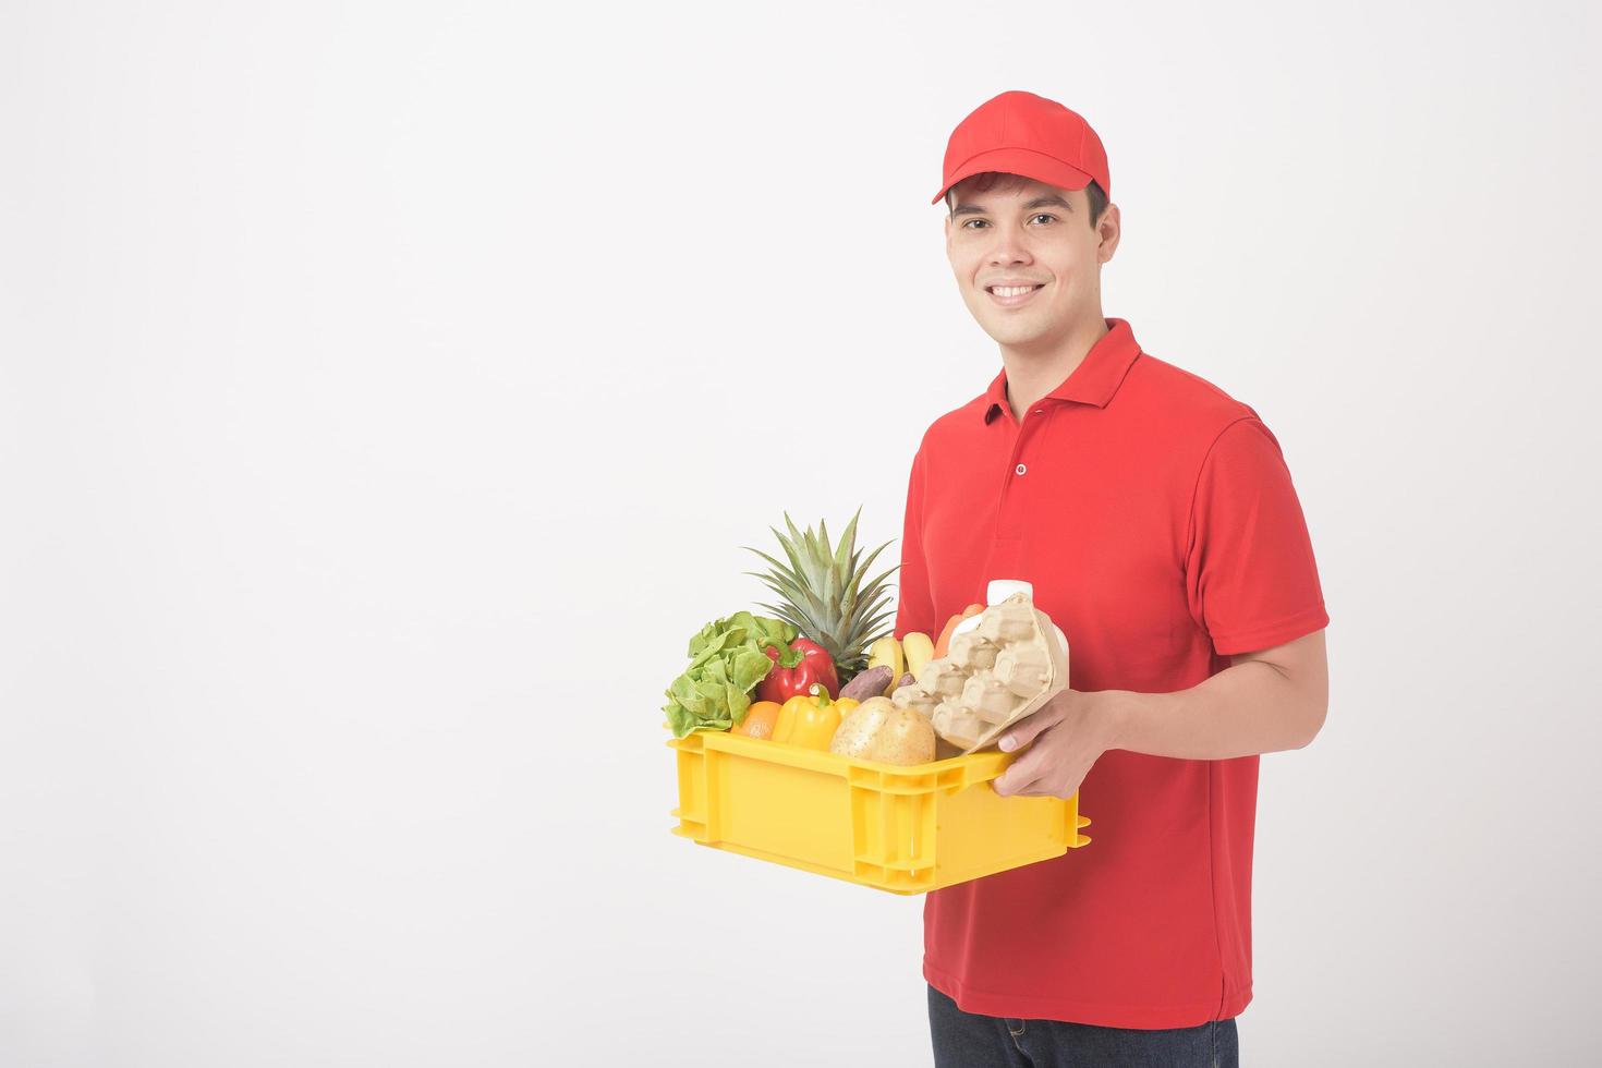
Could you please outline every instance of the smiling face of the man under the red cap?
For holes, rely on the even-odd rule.
[[[968,311],[996,343],[1053,347],[1088,319],[1101,315],[1101,264],[1118,245],[1118,208],[1089,224],[1083,189],[1035,179],[998,181],[977,192],[956,186],[945,219],[945,255]],[[1008,285],[1035,285],[1024,296],[1001,296]]]

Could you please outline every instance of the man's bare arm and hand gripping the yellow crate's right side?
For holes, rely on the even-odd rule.
[[[1070,797],[1107,749],[1190,761],[1301,749],[1323,727],[1328,708],[1323,629],[1235,653],[1229,668],[1189,690],[1064,690],[1003,735],[1003,751],[1030,748],[995,789]]]

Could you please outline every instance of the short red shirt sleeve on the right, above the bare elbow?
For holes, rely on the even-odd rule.
[[[1283,645],[1330,623],[1291,472],[1256,416],[1226,426],[1202,461],[1185,596],[1219,655]]]

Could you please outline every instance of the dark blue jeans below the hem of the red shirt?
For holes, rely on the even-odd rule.
[[[929,986],[936,1068],[1240,1068],[1234,1020],[1141,1031],[963,1012]]]

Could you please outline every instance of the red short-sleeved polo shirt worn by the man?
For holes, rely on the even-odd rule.
[[[1184,690],[1323,628],[1312,543],[1258,413],[1110,331],[1022,423],[1006,371],[913,458],[896,636],[1024,578],[1075,690]],[[1080,788],[1091,844],[936,890],[923,974],[968,1012],[1195,1026],[1251,1001],[1258,757],[1113,749]]]

